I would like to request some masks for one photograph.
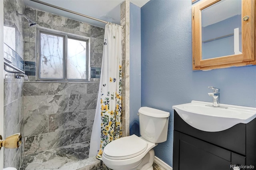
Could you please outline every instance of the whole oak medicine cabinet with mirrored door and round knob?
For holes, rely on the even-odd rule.
[[[201,0],[192,6],[193,70],[256,65],[256,0]]]

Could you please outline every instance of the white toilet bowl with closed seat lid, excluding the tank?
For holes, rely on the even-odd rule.
[[[143,162],[154,162],[154,148],[157,144],[149,142],[135,134],[119,138],[105,146],[102,161],[113,170],[133,170]],[[114,149],[113,149],[114,148]],[[148,156],[146,154],[151,150]],[[143,170],[150,170],[151,165],[145,166]]]

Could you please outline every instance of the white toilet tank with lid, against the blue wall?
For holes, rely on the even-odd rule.
[[[167,140],[169,112],[141,107],[139,109],[140,135],[142,138],[161,143]]]

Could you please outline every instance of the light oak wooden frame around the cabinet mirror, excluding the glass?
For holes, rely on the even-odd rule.
[[[202,0],[192,6],[192,68],[193,70],[219,69],[256,65],[256,0],[242,0],[242,18],[249,16],[247,21],[242,18],[242,53],[211,59],[202,59],[202,22],[201,10],[220,0]]]

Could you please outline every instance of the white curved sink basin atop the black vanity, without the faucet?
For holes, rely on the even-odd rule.
[[[235,105],[221,105],[228,109],[208,107],[209,102],[191,101],[175,105],[172,109],[188,125],[206,132],[218,132],[233,127],[238,123],[249,123],[256,118],[256,108]]]

